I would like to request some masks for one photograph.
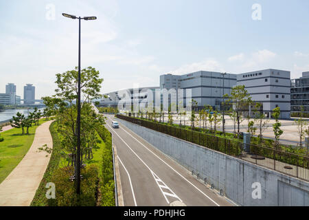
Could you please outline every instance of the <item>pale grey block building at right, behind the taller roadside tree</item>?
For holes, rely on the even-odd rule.
[[[290,72],[264,69],[238,74],[237,85],[244,85],[252,100],[263,104],[268,117],[280,107],[281,118],[290,118]]]

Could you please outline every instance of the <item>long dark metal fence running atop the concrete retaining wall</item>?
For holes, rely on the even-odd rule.
[[[244,152],[244,143],[237,140],[126,115],[117,115],[117,118],[309,181],[309,157],[306,155],[297,155],[254,144],[249,144],[250,152]]]

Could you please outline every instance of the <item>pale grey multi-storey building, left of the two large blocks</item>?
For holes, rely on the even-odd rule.
[[[160,89],[192,89],[191,96],[198,102],[198,109],[209,104],[220,110],[222,96],[231,94],[231,87],[236,85],[236,81],[236,74],[224,75],[219,72],[199,71],[181,76],[165,74],[160,76]]]

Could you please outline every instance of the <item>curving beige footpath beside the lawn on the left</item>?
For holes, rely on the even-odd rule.
[[[30,206],[49,163],[50,155],[46,157],[47,153],[38,152],[38,148],[44,144],[52,148],[51,123],[48,121],[38,126],[29,151],[0,184],[0,206]]]

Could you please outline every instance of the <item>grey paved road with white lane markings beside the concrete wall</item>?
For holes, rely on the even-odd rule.
[[[111,121],[117,118],[106,116],[117,148],[124,206],[169,206],[174,201],[186,206],[235,205],[123,124],[112,129]]]

